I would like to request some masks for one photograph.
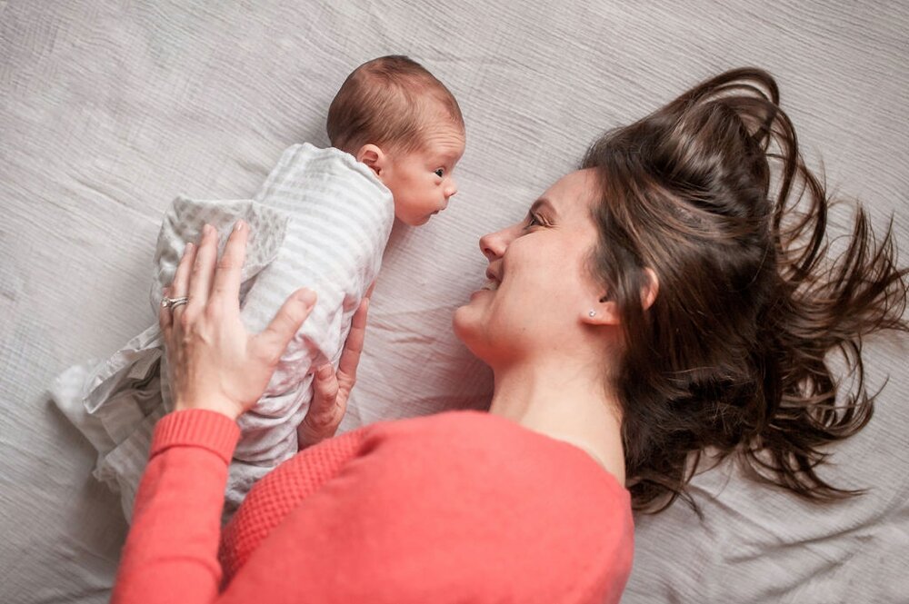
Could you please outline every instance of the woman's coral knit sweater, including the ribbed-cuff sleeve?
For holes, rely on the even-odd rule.
[[[324,441],[256,484],[222,534],[238,437],[212,411],[158,422],[115,604],[602,604],[631,570],[628,491],[512,421],[452,411]]]

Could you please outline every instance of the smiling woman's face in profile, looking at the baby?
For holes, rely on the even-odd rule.
[[[589,270],[597,242],[593,170],[570,173],[536,200],[524,221],[480,238],[487,282],[454,312],[454,332],[495,367],[572,352],[604,295]]]

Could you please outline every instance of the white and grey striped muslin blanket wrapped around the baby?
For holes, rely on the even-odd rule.
[[[241,218],[250,227],[240,292],[247,329],[265,329],[300,287],[314,290],[318,301],[265,395],[239,420],[241,439],[225,494],[228,515],[255,480],[297,451],[296,427],[312,396],[312,370],[325,361],[337,366],[353,314],[379,272],[395,210],[391,192],[352,155],[296,144],[283,153],[255,199],[175,200],[155,252],[155,312],[185,243],[197,241],[209,223],[223,245]],[[173,409],[158,326],[107,361],[64,371],[51,394],[95,445],[95,476],[122,493],[129,520],[155,421]]]

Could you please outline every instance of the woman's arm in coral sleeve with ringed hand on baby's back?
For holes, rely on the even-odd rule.
[[[114,589],[117,603],[217,598],[227,465],[239,437],[235,420],[265,391],[315,303],[312,292],[295,292],[265,332],[245,331],[239,289],[247,231],[245,223],[236,224],[218,262],[217,236],[206,225],[199,247],[186,246],[165,293],[189,299],[159,316],[177,411],[155,427]]]

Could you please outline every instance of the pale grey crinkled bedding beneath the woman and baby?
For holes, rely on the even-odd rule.
[[[846,0],[0,2],[0,600],[106,601],[125,520],[50,381],[154,321],[175,196],[249,197],[287,146],[327,144],[356,64],[424,63],[457,96],[467,149],[449,209],[392,233],[344,430],[482,408],[488,371],[450,329],[484,281],[477,238],[522,217],[597,134],[730,67],[778,78],[808,162],[878,228],[893,216],[909,263],[907,32],[905,3]],[[703,520],[681,505],[636,519],[623,601],[907,601],[907,352],[867,342],[872,389],[889,381],[824,472],[864,496],[818,507],[729,464],[704,471]]]

